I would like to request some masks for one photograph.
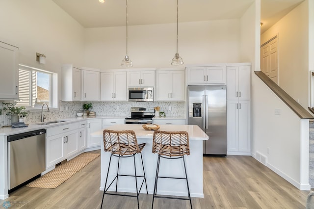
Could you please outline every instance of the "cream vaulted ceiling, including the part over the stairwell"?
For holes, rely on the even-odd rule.
[[[126,25],[126,0],[53,0],[85,28]],[[304,0],[261,0],[261,32]],[[179,0],[179,22],[237,19],[254,0]],[[129,0],[128,25],[176,22],[176,0]]]

